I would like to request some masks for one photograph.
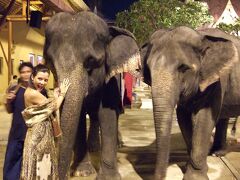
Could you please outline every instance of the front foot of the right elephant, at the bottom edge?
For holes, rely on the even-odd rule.
[[[209,180],[209,178],[205,170],[193,169],[191,166],[188,166],[183,180]]]

